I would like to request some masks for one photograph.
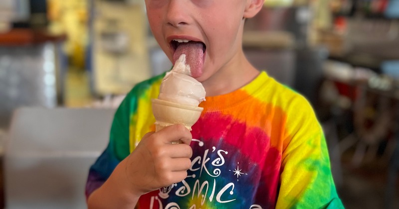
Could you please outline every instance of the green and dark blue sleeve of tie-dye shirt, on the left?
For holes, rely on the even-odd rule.
[[[85,190],[86,199],[108,179],[115,167],[130,153],[129,118],[134,101],[134,97],[128,95],[115,112],[108,146],[90,167]]]

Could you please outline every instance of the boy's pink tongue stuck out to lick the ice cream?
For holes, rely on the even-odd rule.
[[[190,65],[191,76],[194,78],[199,77],[202,74],[203,63],[202,43],[193,41],[180,43],[173,55],[174,62],[176,62],[182,54],[186,54],[186,64]]]

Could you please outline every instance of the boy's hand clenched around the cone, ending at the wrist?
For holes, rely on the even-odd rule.
[[[180,144],[172,144],[176,141]],[[126,177],[132,189],[145,194],[187,177],[193,150],[191,132],[183,125],[171,125],[147,133],[136,149],[124,160]]]

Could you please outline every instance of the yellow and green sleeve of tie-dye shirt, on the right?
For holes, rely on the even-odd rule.
[[[290,106],[276,208],[344,208],[332,178],[323,130],[311,105],[299,97]]]

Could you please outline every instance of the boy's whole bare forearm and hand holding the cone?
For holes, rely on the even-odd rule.
[[[172,144],[174,141],[181,144]],[[140,196],[187,177],[192,135],[183,125],[147,133],[88,199],[88,208],[134,208]]]

